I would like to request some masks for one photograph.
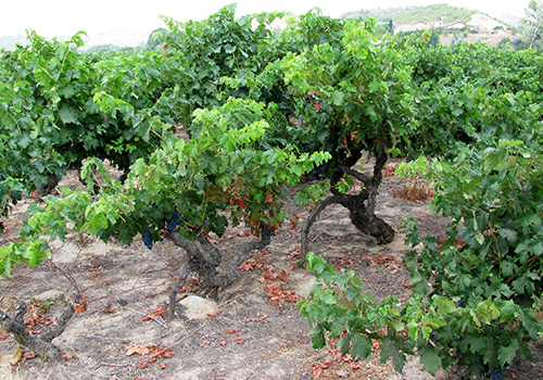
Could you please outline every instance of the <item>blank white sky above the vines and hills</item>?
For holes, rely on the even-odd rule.
[[[15,0],[0,9],[0,37],[25,35],[34,29],[45,37],[118,31],[151,31],[163,27],[160,15],[179,22],[203,20],[224,5],[237,2],[236,15],[272,11],[306,13],[317,7],[325,15],[375,8],[449,3],[477,9],[491,15],[508,13],[522,17],[529,0]]]

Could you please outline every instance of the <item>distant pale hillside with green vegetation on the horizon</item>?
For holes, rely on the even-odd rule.
[[[455,21],[467,23],[471,20],[473,13],[477,13],[477,11],[451,7],[449,4],[433,4],[427,7],[359,10],[357,12],[345,13],[342,17],[370,16],[378,18],[380,22],[393,18],[396,24],[430,22],[433,20],[443,20],[444,23],[452,23]]]

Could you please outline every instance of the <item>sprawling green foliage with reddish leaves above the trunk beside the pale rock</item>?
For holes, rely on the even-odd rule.
[[[247,223],[255,236],[275,230],[288,217],[281,198],[329,154],[296,155],[293,149],[263,148],[270,110],[262,103],[229,99],[223,106],[194,112],[193,137],[188,142],[169,134],[149,157],[132,165],[126,182],[111,178],[100,160],[88,160],[81,175],[87,191],[61,189],[47,197],[25,223],[22,241],[5,249],[5,273],[13,262],[41,263],[49,239],[64,240],[67,226],[108,241],[112,236],[129,244],[143,230],[153,240],[164,236],[166,219],[177,211],[178,232],[188,240],[198,233],[223,236],[229,220]],[[104,181],[93,193],[94,178]],[[228,211],[225,216],[225,211]]]

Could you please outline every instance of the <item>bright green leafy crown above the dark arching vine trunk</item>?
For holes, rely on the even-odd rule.
[[[306,30],[305,24],[314,27],[311,37],[298,31]],[[280,125],[275,136],[299,141],[302,151],[331,152],[332,169],[352,166],[350,157],[363,150],[375,155],[393,148],[408,150],[407,137],[416,123],[409,69],[397,53],[401,47],[376,43],[375,20],[339,23],[307,14],[294,25],[285,36],[298,41],[300,52],[273,62],[258,79],[270,86],[273,75],[288,87],[294,104],[288,111],[303,128]]]

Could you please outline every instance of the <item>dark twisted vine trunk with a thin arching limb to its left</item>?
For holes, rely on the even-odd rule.
[[[340,166],[338,173],[332,175],[332,195],[324,199],[310,214],[302,228],[302,256],[305,257],[307,237],[312,226],[320,213],[330,204],[341,204],[349,210],[351,223],[363,233],[372,236],[379,244],[388,244],[394,240],[394,229],[382,218],[375,215],[377,191],[382,180],[382,168],[387,163],[388,155],[377,155],[374,166],[374,176],[368,177],[346,166]],[[353,164],[354,165],[354,164]],[[364,183],[364,188],[357,194],[343,194],[337,190],[334,183],[344,175],[350,175]],[[304,258],[305,259],[305,258]]]

